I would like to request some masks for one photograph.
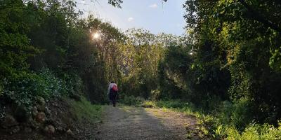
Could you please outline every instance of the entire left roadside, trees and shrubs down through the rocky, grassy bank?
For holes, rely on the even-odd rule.
[[[86,137],[80,125],[100,121],[111,71],[105,52],[122,33],[80,15],[75,1],[0,2],[1,139]],[[103,42],[93,38],[98,31]]]

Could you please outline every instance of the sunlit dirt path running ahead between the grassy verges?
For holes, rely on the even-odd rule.
[[[105,106],[96,139],[198,139],[196,119],[164,109]]]

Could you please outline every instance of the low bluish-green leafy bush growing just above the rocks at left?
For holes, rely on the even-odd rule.
[[[0,98],[4,102],[29,108],[38,96],[50,99],[72,93],[76,85],[81,85],[81,80],[70,78],[57,78],[49,69],[42,69],[39,73],[20,73],[4,79],[3,95]]]

